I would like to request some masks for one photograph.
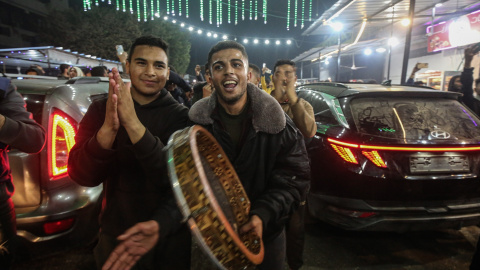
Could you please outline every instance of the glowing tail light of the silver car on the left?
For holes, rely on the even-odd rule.
[[[55,109],[50,115],[48,171],[52,180],[67,174],[68,155],[75,145],[76,126],[77,122],[61,110]]]

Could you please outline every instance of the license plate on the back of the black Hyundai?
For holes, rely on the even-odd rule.
[[[470,172],[466,156],[425,156],[410,157],[412,173]]]

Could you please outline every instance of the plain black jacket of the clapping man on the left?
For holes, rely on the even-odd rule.
[[[138,222],[154,219],[160,237],[165,237],[179,228],[182,216],[162,149],[173,132],[186,127],[188,109],[165,89],[149,104],[135,102],[145,135],[132,145],[122,127],[113,149],[102,149],[95,136],[105,119],[106,102],[105,97],[92,103],[80,122],[68,160],[70,177],[84,186],[104,184],[102,233],[116,237]]]

